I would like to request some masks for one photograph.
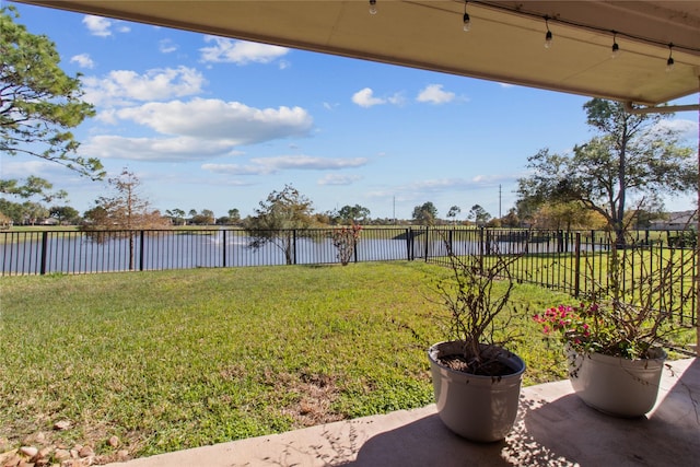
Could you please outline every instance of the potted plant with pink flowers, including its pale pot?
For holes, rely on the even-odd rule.
[[[569,380],[588,406],[618,417],[641,417],[655,405],[674,312],[692,297],[682,277],[695,252],[610,244],[607,287],[578,305],[534,316],[564,343]],[[655,266],[654,266],[655,265]]]

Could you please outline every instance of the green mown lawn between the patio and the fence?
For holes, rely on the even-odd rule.
[[[444,273],[415,261],[2,278],[0,442],[43,432],[109,459],[113,435],[144,456],[425,406],[425,348],[445,337],[430,284]],[[561,346],[529,317],[570,300],[534,285],[513,299],[525,384],[565,377]],[[52,430],[62,420],[72,428]]]

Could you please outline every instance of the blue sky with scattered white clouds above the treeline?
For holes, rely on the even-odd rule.
[[[292,184],[319,212],[361,205],[409,219],[431,201],[441,218],[477,203],[504,215],[528,155],[593,136],[585,96],[15,7],[19,23],[56,43],[63,70],[83,75],[97,115],[73,131],[81,155],[109,176],[133,172],[163,212],[245,217]],[[697,144],[697,113],[674,125]],[[44,177],[81,212],[110,192],[57,164],[1,157],[3,178]]]

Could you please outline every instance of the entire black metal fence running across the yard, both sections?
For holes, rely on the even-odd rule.
[[[2,232],[0,267],[1,276],[16,276],[332,264],[339,262],[332,233],[334,229]],[[665,277],[678,303],[680,297],[690,297],[678,313],[681,322],[692,324],[697,255],[695,248],[682,247],[682,240],[672,232],[638,232],[623,250],[632,265],[625,282],[627,290],[641,292],[646,283],[644,271],[673,260]],[[352,260],[444,262],[447,246],[456,255],[478,255],[486,260],[495,254],[517,256],[511,265],[515,279],[574,296],[608,284],[611,245],[609,235],[598,231],[372,227],[362,232]]]

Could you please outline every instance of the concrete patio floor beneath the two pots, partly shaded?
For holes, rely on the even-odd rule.
[[[338,465],[700,466],[700,359],[667,362],[656,406],[639,419],[593,410],[562,381],[523,389],[503,442],[460,439],[431,405],[109,466]]]

